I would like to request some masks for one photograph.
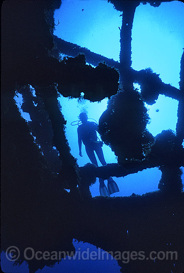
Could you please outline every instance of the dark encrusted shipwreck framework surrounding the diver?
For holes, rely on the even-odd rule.
[[[43,252],[71,251],[76,238],[113,252],[177,251],[175,262],[118,263],[122,273],[179,273],[184,269],[180,169],[184,166],[184,54],[180,89],[162,82],[151,69],[132,69],[131,29],[136,7],[141,2],[159,6],[170,1],[108,2],[123,12],[120,62],[53,35],[54,11],[60,0],[2,4],[1,251],[17,246],[21,255],[16,263],[21,264],[28,246]],[[61,60],[61,53],[68,57]],[[141,93],[133,88],[134,82],[140,84]],[[30,114],[30,122],[18,111],[16,92],[22,94],[22,110]],[[110,99],[99,120],[99,132],[118,157],[117,164],[79,167],[71,155],[58,94],[79,98],[81,92],[91,102]],[[168,130],[153,137],[146,130],[149,117],[144,102],[153,104],[159,94],[179,101],[176,134]],[[123,128],[119,134],[117,121]],[[156,192],[91,197],[89,186],[97,177],[123,177],[152,167],[162,171]],[[28,261],[30,273],[55,263]]]

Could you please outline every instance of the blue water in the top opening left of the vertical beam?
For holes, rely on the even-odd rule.
[[[103,0],[65,0],[55,11],[54,34],[63,40],[119,61],[121,12]]]

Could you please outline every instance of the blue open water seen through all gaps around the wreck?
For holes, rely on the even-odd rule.
[[[135,10],[131,36],[131,67],[135,70],[151,68],[153,73],[159,74],[164,83],[171,84],[177,89],[180,88],[180,66],[184,47],[183,14],[184,3],[182,1],[164,1],[158,7],[151,6],[149,3],[140,3]],[[120,62],[122,18],[122,11],[115,9],[113,4],[106,0],[63,0],[61,7],[54,12],[54,35],[66,42],[89,49],[91,52],[115,62]],[[66,54],[61,54],[60,60],[65,57]],[[96,66],[93,65],[93,67]],[[31,82],[30,88],[32,96],[36,98],[35,88]],[[139,93],[141,92],[138,83],[134,83],[134,88],[137,88]],[[64,125],[65,136],[70,147],[70,153],[76,158],[79,167],[90,161],[85,153],[84,145],[82,145],[83,157],[79,156],[77,125],[72,126],[71,123],[78,121],[78,116],[83,111],[88,114],[88,118],[94,119],[98,123],[107,109],[109,101],[106,97],[101,101],[90,102],[90,100],[85,99],[84,95],[84,92],[81,92],[78,98],[69,98],[61,94],[58,96],[61,113],[66,121]],[[24,112],[22,107],[24,98],[18,89],[13,98],[22,118],[26,122],[31,122],[31,116],[26,111]],[[179,106],[177,99],[159,94],[155,103],[150,105],[144,102],[144,105],[150,117],[150,122],[146,128],[154,137],[163,130],[172,130],[176,134]],[[100,137],[100,135],[98,136]],[[57,148],[54,146],[54,149]],[[118,158],[110,146],[103,144],[103,152],[107,163],[118,163]],[[101,166],[99,161],[98,163]],[[181,170],[184,171],[184,167],[181,167]],[[113,177],[120,192],[111,195],[111,197],[129,197],[132,194],[143,195],[158,191],[161,176],[162,172],[159,167],[153,167],[124,177]],[[181,178],[184,183],[184,174]],[[67,187],[64,189],[68,193],[70,192]],[[89,189],[93,198],[100,195],[98,178],[97,182],[91,185]],[[112,209],[110,213],[112,213]],[[116,222],[113,224],[116,225]],[[105,232],[106,230],[104,230]],[[106,239],[108,240],[108,238]],[[87,243],[87,240],[83,242],[75,237],[72,244],[76,250],[80,249],[81,251],[85,251],[87,248],[90,248],[90,252],[98,249],[97,246]],[[100,251],[103,251],[103,248]],[[29,272],[25,261],[20,266],[13,266],[12,262],[7,261],[4,251],[1,253],[1,269],[3,272],[12,273]],[[126,272],[121,271],[121,267],[115,259],[110,261],[109,258],[106,261],[62,260],[61,263],[56,263],[53,268],[45,266],[42,270],[38,269],[36,273],[90,273],[94,271]]]

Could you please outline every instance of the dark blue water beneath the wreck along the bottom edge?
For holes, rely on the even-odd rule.
[[[53,268],[45,266],[42,270],[37,270],[36,273],[101,273],[104,272],[104,269],[106,269],[106,273],[120,273],[121,268],[118,262],[103,249],[97,249],[91,244],[78,242],[75,239],[73,239],[73,245],[77,259],[66,256],[66,260],[62,259]],[[5,273],[29,273],[28,265],[25,262],[19,267],[13,267],[13,263],[6,259],[4,252],[1,253],[1,269]]]

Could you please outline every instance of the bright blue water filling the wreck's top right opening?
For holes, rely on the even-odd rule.
[[[165,83],[179,88],[184,47],[184,4],[140,4],[132,28],[132,68],[152,68]]]

